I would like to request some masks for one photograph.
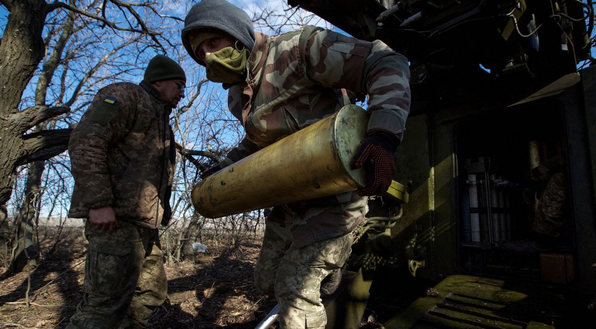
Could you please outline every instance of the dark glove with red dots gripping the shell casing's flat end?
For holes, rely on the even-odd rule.
[[[373,132],[360,143],[352,167],[364,166],[367,185],[356,192],[361,196],[381,195],[387,191],[395,174],[395,150],[399,139],[385,132]]]

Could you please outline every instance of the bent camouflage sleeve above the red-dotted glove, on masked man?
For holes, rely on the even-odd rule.
[[[307,76],[330,88],[368,94],[368,132],[387,132],[401,141],[410,105],[408,60],[378,40],[325,29],[305,32],[300,52]]]

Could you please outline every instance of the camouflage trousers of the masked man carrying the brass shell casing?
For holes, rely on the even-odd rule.
[[[364,216],[367,199],[361,198],[349,207],[344,204],[344,216]],[[352,250],[352,234],[326,238],[297,246],[293,228],[328,216],[337,216],[337,208],[309,209],[300,215],[288,206],[275,207],[266,221],[265,237],[254,269],[254,283],[262,293],[274,294],[280,304],[280,328],[324,328],[327,323],[322,305],[321,281],[335,269],[342,268]],[[316,216],[316,217],[315,217]],[[349,222],[358,223],[352,218]]]

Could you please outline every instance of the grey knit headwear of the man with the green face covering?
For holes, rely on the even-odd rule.
[[[225,0],[203,0],[195,4],[184,19],[182,44],[190,57],[198,64],[205,63],[197,58],[188,40],[188,35],[195,29],[210,27],[222,30],[240,41],[247,49],[254,47],[254,27],[249,15]]]

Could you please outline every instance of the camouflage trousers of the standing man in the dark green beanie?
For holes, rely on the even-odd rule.
[[[85,225],[83,301],[67,328],[142,328],[166,299],[158,230],[118,224],[111,232]]]

